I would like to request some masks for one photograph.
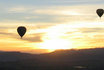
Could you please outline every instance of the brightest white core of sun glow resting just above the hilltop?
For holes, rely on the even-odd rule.
[[[71,49],[72,43],[64,39],[47,40],[43,44],[44,49]]]

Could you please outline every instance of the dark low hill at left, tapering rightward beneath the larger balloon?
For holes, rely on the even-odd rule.
[[[0,61],[18,61],[23,59],[34,58],[37,55],[21,52],[0,52]]]

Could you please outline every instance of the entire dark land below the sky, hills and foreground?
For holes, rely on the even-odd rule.
[[[104,70],[104,48],[48,54],[0,52],[0,70]]]

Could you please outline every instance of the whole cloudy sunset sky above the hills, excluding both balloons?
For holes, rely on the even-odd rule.
[[[104,0],[0,0],[0,50],[46,53],[104,47]],[[23,39],[19,26],[27,32]]]

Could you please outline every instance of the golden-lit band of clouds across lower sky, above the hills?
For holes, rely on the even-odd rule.
[[[43,52],[42,49],[48,49],[44,50],[45,52],[52,52],[57,49],[101,47],[103,46],[103,25],[103,22],[69,22],[52,26],[45,25],[45,28],[41,24],[41,28],[36,28],[36,25],[28,26],[28,31],[23,39],[20,39],[16,28],[9,27],[0,31],[0,45],[4,46],[0,49],[33,53],[36,49],[41,49],[40,52]],[[6,44],[4,44],[5,40]]]

